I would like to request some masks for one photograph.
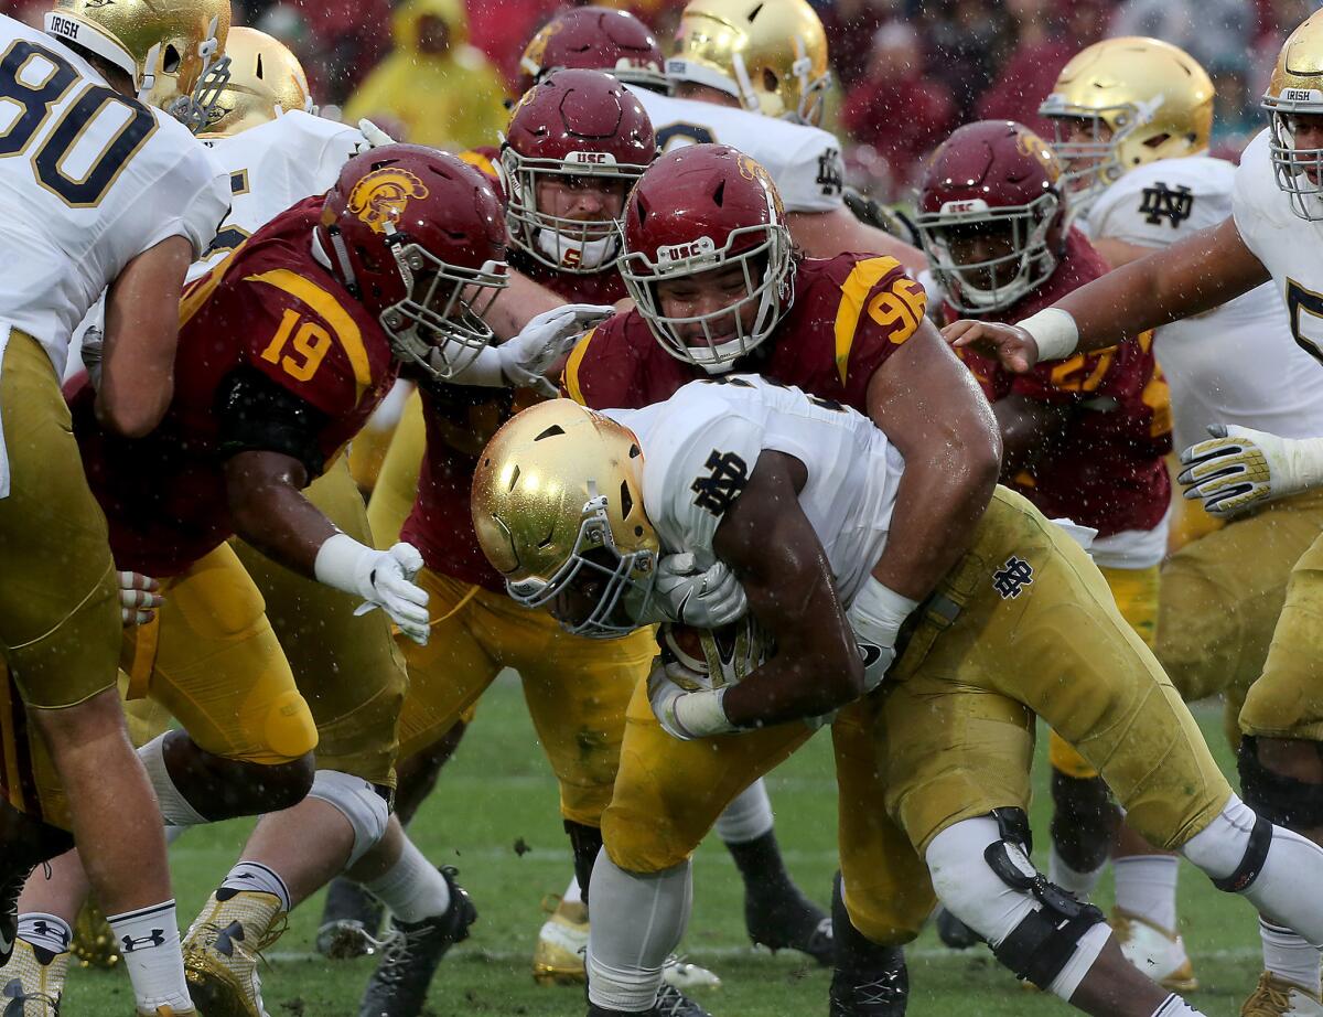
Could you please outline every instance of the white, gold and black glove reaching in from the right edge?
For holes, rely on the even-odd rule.
[[[1176,478],[1189,501],[1228,518],[1323,485],[1323,438],[1279,438],[1234,424],[1215,424],[1212,438],[1180,453]]]

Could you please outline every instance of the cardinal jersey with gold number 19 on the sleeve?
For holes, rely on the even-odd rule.
[[[398,372],[376,319],[314,258],[321,197],[277,216],[194,282],[180,306],[175,396],[151,436],[97,421],[71,395],[74,433],[120,568],[172,576],[234,531],[224,466],[282,452],[319,475]]]

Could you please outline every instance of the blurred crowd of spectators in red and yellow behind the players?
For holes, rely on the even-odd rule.
[[[632,11],[667,50],[684,0],[598,0]],[[1156,36],[1217,86],[1215,154],[1234,159],[1263,123],[1258,97],[1290,30],[1318,0],[811,0],[837,90],[824,126],[852,183],[904,199],[922,158],[954,127],[1009,118],[1044,130],[1039,103],[1080,49]],[[237,24],[286,41],[323,111],[370,117],[401,140],[491,143],[517,89],[524,44],[566,0],[234,0]],[[40,24],[49,0],[0,0]]]

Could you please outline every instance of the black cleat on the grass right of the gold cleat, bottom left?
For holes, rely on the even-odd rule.
[[[442,866],[441,874],[450,887],[450,907],[422,922],[392,919],[394,935],[363,993],[359,1017],[418,1017],[441,959],[455,943],[468,939],[478,908],[455,882],[451,866]]]

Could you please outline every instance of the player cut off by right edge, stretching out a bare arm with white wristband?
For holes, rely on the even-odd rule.
[[[1017,326],[957,322],[946,335],[958,344],[995,348],[1007,368],[1023,372],[1040,359],[1103,348],[1135,330],[1211,311],[1271,279],[1286,301],[1293,339],[1316,359],[1316,322],[1323,316],[1323,303],[1314,295],[1323,291],[1318,261],[1323,249],[1323,228],[1318,225],[1323,221],[1320,72],[1323,15],[1315,15],[1282,48],[1263,97],[1269,128],[1241,156],[1228,217],[1076,290]],[[1201,327],[1197,334],[1205,335]],[[1275,339],[1271,330],[1254,332],[1246,356],[1257,356],[1261,346],[1265,358],[1277,356],[1271,351]],[[1201,499],[1218,518],[1249,515],[1228,526],[1225,543],[1209,546],[1216,554],[1201,564],[1207,596],[1232,597],[1221,610],[1234,612],[1238,591],[1254,581],[1248,563],[1263,551],[1263,538],[1241,546],[1236,527],[1252,526],[1253,516],[1279,498],[1318,487],[1323,477],[1320,448],[1318,437],[1289,438],[1218,424],[1212,440],[1181,453],[1185,470],[1179,479],[1187,486],[1187,498]],[[1323,840],[1323,657],[1314,624],[1323,544],[1316,530],[1312,532],[1314,543],[1291,569],[1262,671],[1240,710],[1244,738],[1238,760],[1246,802],[1274,821]],[[1266,554],[1275,557],[1275,552]],[[1215,592],[1218,589],[1228,592]],[[1263,918],[1275,924],[1270,915]],[[1246,1012],[1323,1010],[1318,949],[1289,930],[1266,931],[1269,968]]]

